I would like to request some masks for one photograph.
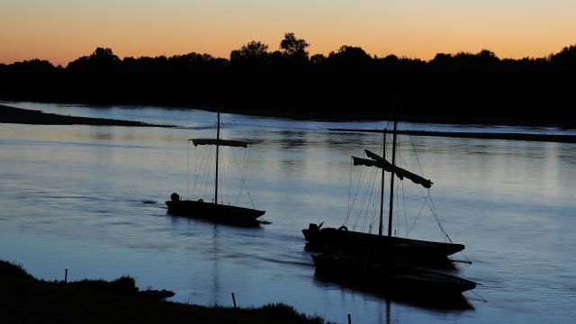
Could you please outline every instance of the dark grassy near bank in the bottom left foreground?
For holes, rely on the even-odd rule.
[[[284,304],[231,308],[163,302],[166,291],[139,291],[124,276],[112,282],[35,279],[22,266],[0,261],[2,323],[324,323]]]

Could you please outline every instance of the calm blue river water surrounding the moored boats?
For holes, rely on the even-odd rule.
[[[377,151],[381,135],[331,132],[384,122],[287,121],[222,114],[225,203],[266,210],[256,229],[166,214],[170,193],[211,200],[207,148],[212,112],[155,107],[6,103],[45,112],[173,123],[183,128],[0,124],[0,258],[32,275],[71,280],[133,275],[139,287],[176,292],[174,301],[242,306],[286,302],[327,320],[354,323],[541,323],[576,318],[576,146],[547,142],[401,137],[402,166],[434,182],[430,193],[450,238],[472,265],[458,275],[480,285],[472,308],[438,311],[386,301],[314,276],[301,229],[310,222],[375,231],[374,199],[350,156]],[[1,113],[1,112],[0,112]],[[402,124],[403,130],[521,131]],[[572,131],[574,133],[574,131]],[[414,151],[418,153],[414,155]],[[233,153],[232,153],[233,152]],[[418,157],[418,158],[417,158]],[[239,167],[235,163],[238,161]],[[239,191],[243,166],[247,188]],[[421,170],[420,171],[420,166]],[[373,184],[374,185],[374,184]],[[377,185],[376,185],[377,186]],[[204,192],[206,194],[204,195]],[[399,185],[396,235],[443,240],[415,184]],[[356,207],[367,211],[348,212]],[[363,202],[365,197],[365,202]],[[386,194],[385,199],[388,195]],[[377,202],[376,202],[377,205]],[[371,210],[371,208],[373,208]],[[462,255],[455,258],[464,259]]]

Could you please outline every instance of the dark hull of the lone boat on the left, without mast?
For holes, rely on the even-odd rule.
[[[171,215],[233,224],[257,224],[257,218],[266,213],[245,207],[190,200],[167,201],[166,205]]]

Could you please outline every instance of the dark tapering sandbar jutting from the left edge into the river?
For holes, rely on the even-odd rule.
[[[57,113],[10,107],[0,104],[0,122],[31,125],[94,125],[94,126],[133,126],[133,127],[175,127],[150,124],[142,121],[122,121],[106,118],[66,116]]]

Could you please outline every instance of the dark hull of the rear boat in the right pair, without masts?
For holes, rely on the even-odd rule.
[[[302,229],[302,233],[308,242],[306,247],[311,251],[368,253],[378,261],[417,266],[447,266],[450,264],[448,256],[464,250],[462,244],[380,236],[347,229],[320,229],[316,224]]]

